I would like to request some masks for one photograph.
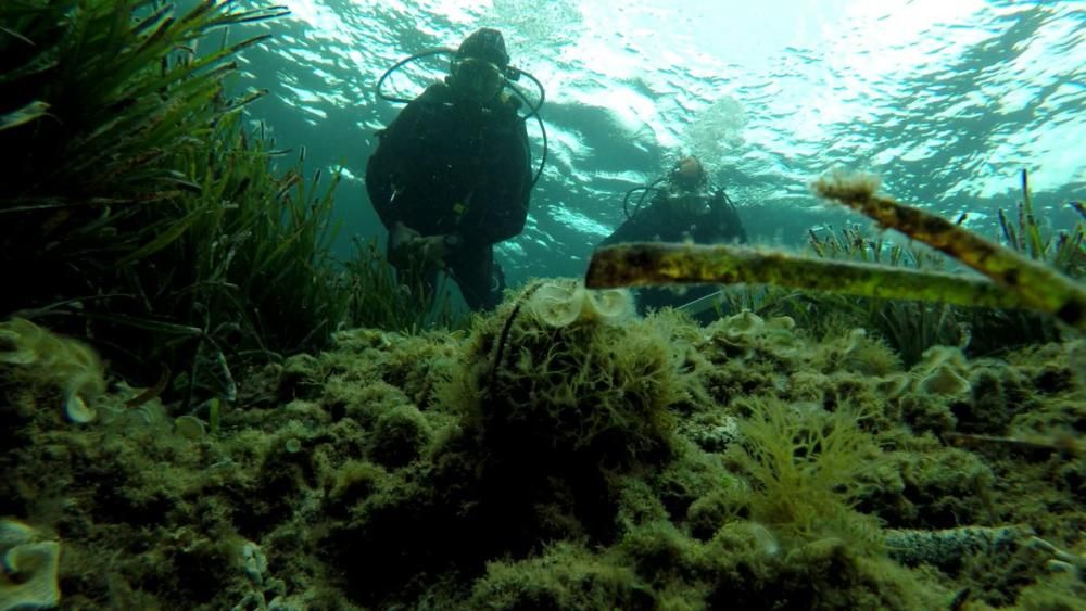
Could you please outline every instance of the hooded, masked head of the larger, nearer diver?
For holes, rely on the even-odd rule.
[[[452,74],[450,85],[459,96],[487,103],[505,87],[508,66],[509,53],[505,51],[502,33],[484,27],[460,42],[449,66]]]

